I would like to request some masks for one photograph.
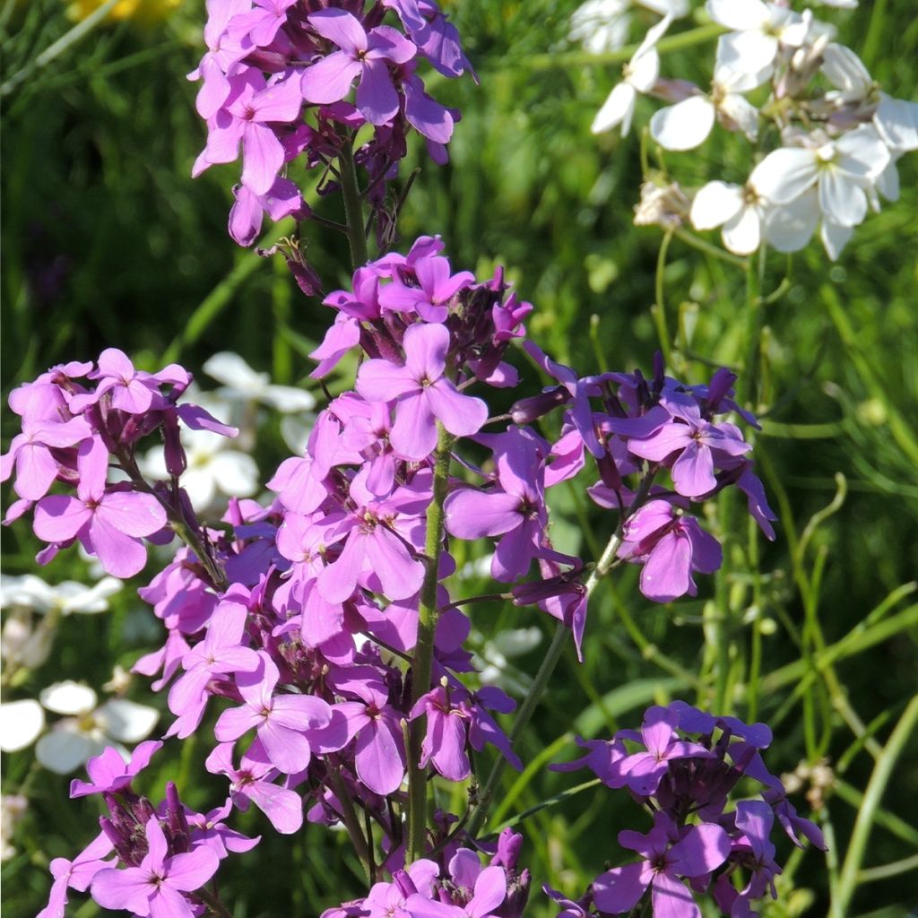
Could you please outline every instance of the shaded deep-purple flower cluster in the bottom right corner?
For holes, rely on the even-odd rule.
[[[771,731],[764,723],[747,726],[674,701],[648,709],[640,733],[577,742],[587,756],[554,770],[587,767],[607,787],[628,789],[654,824],[646,834],[619,834],[619,844],[640,859],[599,874],[582,900],[546,890],[565,904],[565,914],[586,916],[591,905],[604,914],[631,912],[649,892],[655,915],[699,918],[693,893],[711,893],[723,914],[751,916],[757,900],[769,890],[775,895],[776,822],[795,845],[802,846],[803,835],[825,849],[819,828],[797,815],[780,778],[765,767],[761,754]],[[760,799],[746,795],[728,809],[741,780],[756,782]]]

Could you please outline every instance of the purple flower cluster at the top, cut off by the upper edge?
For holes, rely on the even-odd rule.
[[[435,162],[446,162],[459,115],[427,95],[418,65],[426,60],[450,78],[472,68],[433,0],[209,0],[207,13],[207,52],[191,74],[201,81],[196,105],[207,120],[207,146],[193,174],[234,162],[241,149],[229,215],[229,233],[240,245],[252,244],[265,214],[308,218],[301,189],[285,175],[287,163],[303,156],[328,191],[333,162],[364,126],[372,135],[354,158],[377,209],[385,206],[386,182],[397,175],[411,129]]]

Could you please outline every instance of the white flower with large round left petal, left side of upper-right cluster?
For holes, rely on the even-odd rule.
[[[766,71],[741,73],[719,61],[714,68],[711,95],[689,95],[675,106],[661,108],[650,119],[650,133],[665,150],[694,150],[707,139],[714,120],[720,118],[726,128],[738,128],[749,140],[755,140],[758,110],[741,94],[766,79]]]

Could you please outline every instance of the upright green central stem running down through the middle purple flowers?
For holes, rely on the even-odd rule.
[[[437,608],[437,582],[443,547],[443,502],[449,489],[450,451],[453,436],[437,422],[437,452],[433,464],[433,499],[427,508],[427,536],[424,545],[424,580],[418,604],[418,643],[411,663],[411,704],[431,690],[433,635],[440,610]],[[406,862],[425,855],[427,841],[427,769],[420,767],[420,749],[426,732],[425,718],[417,718],[409,728],[408,756],[408,848]]]

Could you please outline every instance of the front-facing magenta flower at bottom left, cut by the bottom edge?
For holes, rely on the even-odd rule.
[[[150,849],[140,867],[108,868],[95,875],[92,894],[106,909],[125,909],[146,918],[194,918],[183,893],[199,890],[216,872],[218,856],[201,845],[194,851],[169,856],[166,837],[155,816],[146,828]]]

